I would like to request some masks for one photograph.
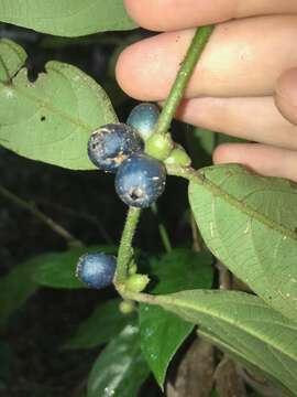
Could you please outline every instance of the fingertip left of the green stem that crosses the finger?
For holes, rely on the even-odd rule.
[[[139,100],[164,100],[176,77],[193,30],[162,33],[131,44],[119,56],[116,77],[120,87]]]

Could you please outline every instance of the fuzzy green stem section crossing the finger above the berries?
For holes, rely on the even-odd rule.
[[[202,54],[202,51],[210,37],[212,30],[212,25],[201,26],[196,30],[186,57],[180,65],[175,83],[165,101],[163,111],[160,115],[155,133],[166,133],[168,131],[176,109],[180,100],[183,99],[188,81],[190,79],[193,71],[197,64],[197,61]]]

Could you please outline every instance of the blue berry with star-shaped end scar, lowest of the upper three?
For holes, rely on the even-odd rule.
[[[161,161],[136,153],[119,167],[116,191],[127,205],[145,208],[164,192],[166,170]]]

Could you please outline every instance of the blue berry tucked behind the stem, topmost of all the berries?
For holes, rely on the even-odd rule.
[[[143,103],[132,109],[127,124],[135,128],[143,140],[147,140],[154,131],[158,116],[156,105]]]

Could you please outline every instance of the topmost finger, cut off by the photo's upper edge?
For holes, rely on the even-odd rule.
[[[297,13],[296,0],[125,0],[141,26],[175,31],[253,15]]]

